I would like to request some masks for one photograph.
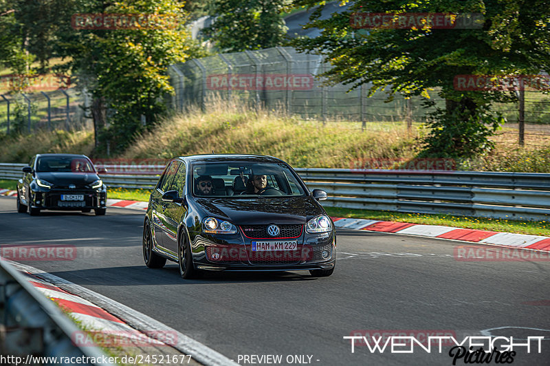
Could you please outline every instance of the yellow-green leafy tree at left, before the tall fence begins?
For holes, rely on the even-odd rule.
[[[155,28],[71,31],[70,25],[64,25],[60,52],[72,57],[67,67],[94,97],[96,147],[103,139],[111,142],[113,151],[120,150],[165,111],[162,96],[173,93],[168,66],[185,61],[193,43],[178,1],[84,1],[83,5],[78,12],[170,17],[165,26]]]

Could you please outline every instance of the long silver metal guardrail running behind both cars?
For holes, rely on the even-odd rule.
[[[0,163],[0,178],[19,179],[23,166]],[[118,173],[102,179],[110,187],[153,189],[163,168],[148,166],[148,171],[139,172],[119,165]],[[327,191],[325,206],[550,221],[546,173],[318,168],[296,172],[309,189]]]

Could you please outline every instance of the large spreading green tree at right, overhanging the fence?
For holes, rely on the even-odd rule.
[[[298,0],[296,5],[315,6]],[[478,12],[481,29],[357,30],[354,12]],[[333,83],[358,87],[372,83],[370,94],[388,87],[390,97],[423,96],[439,88],[445,108],[437,108],[423,140],[423,155],[469,157],[492,148],[488,140],[502,118],[490,109],[494,102],[511,102],[510,92],[455,90],[457,74],[538,74],[550,70],[550,3],[528,0],[359,0],[346,12],[320,19],[314,12],[308,27],[322,29],[315,39],[298,39],[299,50],[325,54],[333,68],[325,76]]]

